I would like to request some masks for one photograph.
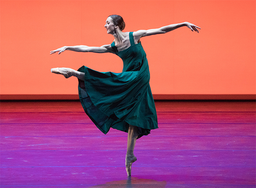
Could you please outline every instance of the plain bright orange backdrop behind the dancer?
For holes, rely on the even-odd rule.
[[[184,21],[202,28],[141,39],[153,94],[256,94],[255,10],[254,0],[0,0],[0,94],[77,94],[77,79],[54,67],[121,72],[114,54],[49,54],[110,44],[111,14],[124,18],[124,31]]]

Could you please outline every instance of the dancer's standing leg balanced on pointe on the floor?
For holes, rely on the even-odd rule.
[[[134,156],[134,147],[135,147],[138,135],[139,135],[138,127],[129,125],[127,151],[126,151],[126,157],[125,157],[125,166],[126,166],[126,172],[128,176],[131,175],[132,163],[137,160],[137,158]]]

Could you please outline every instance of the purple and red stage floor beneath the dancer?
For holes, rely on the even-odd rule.
[[[101,133],[78,101],[0,103],[2,188],[255,188],[254,101],[156,101],[159,129]]]

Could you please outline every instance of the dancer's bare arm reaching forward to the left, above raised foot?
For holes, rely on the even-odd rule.
[[[113,49],[111,48],[110,44],[103,45],[100,47],[94,47],[94,46],[63,46],[61,48],[58,48],[57,50],[50,51],[50,54],[59,52],[64,52],[65,50],[71,50],[74,52],[94,52],[94,53],[115,53]]]

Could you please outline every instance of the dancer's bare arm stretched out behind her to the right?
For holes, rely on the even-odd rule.
[[[194,24],[191,24],[189,22],[183,22],[183,23],[180,23],[180,24],[171,24],[169,26],[163,26],[163,27],[158,28],[158,29],[148,29],[148,30],[135,31],[134,32],[134,39],[139,40],[141,37],[167,33],[169,31],[173,31],[174,29],[177,29],[177,28],[180,28],[180,27],[183,27],[183,26],[187,26],[189,29],[191,29],[191,31],[197,31],[197,33],[199,33],[198,29],[201,29],[198,26],[195,26]]]

